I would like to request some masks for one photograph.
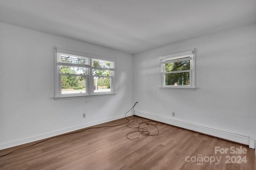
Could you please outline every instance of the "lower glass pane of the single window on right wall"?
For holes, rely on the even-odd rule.
[[[165,85],[190,85],[189,72],[166,73]]]

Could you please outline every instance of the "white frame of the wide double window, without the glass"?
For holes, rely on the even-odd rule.
[[[92,54],[86,54],[76,51],[71,51],[67,49],[63,49],[60,47],[55,47],[55,100],[60,99],[76,99],[76,98],[83,98],[83,97],[90,97],[90,96],[100,96],[100,95],[114,95],[114,71],[115,71],[115,59],[111,59],[108,57],[101,57]],[[87,58],[89,60],[89,64],[76,64],[76,63],[65,63],[58,60],[58,56],[60,54],[66,55],[73,55],[78,56],[81,58]],[[93,66],[93,59],[96,60],[103,60],[103,61],[110,61],[112,63],[112,68],[104,68],[104,67],[94,67]],[[73,75],[73,74],[64,74],[60,73],[61,66],[71,66],[71,67],[84,67],[87,68],[88,73],[85,75]],[[110,76],[98,76],[93,75],[93,69],[103,69],[103,70],[111,70]],[[86,93],[72,93],[72,94],[62,94],[62,87],[61,87],[61,76],[62,75],[70,75],[70,76],[82,76],[86,77]],[[94,77],[110,77],[110,91],[109,92],[94,92]]]

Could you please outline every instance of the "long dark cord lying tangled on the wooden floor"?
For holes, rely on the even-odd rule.
[[[138,117],[138,116],[135,115],[135,113],[134,113],[134,107],[135,107],[135,105],[136,105],[137,103],[138,103],[138,102],[136,102],[136,103],[134,104],[134,106],[129,110],[129,111],[132,110],[132,116],[133,116],[133,117]],[[35,144],[29,145],[29,146],[25,146],[25,147],[22,147],[22,148],[18,148],[18,149],[16,149],[16,150],[13,150],[13,151],[7,153],[7,154],[0,155],[0,157],[6,156],[6,155],[8,155],[8,154],[10,154],[10,153],[12,153],[12,152],[16,152],[17,150],[21,150],[21,149],[24,149],[24,148],[28,148],[28,147],[30,147],[30,146],[34,146],[34,145],[36,145],[36,144],[42,143],[42,142],[44,142],[44,141],[46,141],[46,140],[50,140],[50,139],[52,139],[52,138],[56,138],[56,137],[60,137],[60,136],[65,136],[65,135],[69,135],[69,134],[74,134],[74,133],[79,133],[79,132],[82,132],[82,131],[84,131],[84,130],[93,129],[93,128],[116,127],[116,126],[120,126],[120,125],[125,125],[126,123],[129,123],[129,122],[130,122],[130,120],[126,117],[126,114],[127,114],[129,111],[127,111],[127,112],[124,114],[124,116],[125,116],[125,118],[126,118],[126,120],[127,120],[125,123],[118,124],[118,125],[112,125],[112,126],[102,126],[102,127],[85,128],[85,129],[83,129],[83,130],[76,131],[76,132],[71,132],[71,133],[67,133],[67,134],[60,134],[60,135],[57,135],[57,136],[53,136],[53,137],[47,138],[47,139],[42,140],[42,141],[40,141],[40,142],[37,142],[37,143],[35,143]],[[141,118],[141,119],[142,119],[142,118]],[[135,120],[135,118],[134,118],[134,120]],[[133,120],[131,123],[133,123],[134,120]],[[136,121],[137,121],[137,118],[136,118]],[[143,134],[144,136],[156,135],[156,134],[150,134],[150,132],[147,131],[147,128],[140,128],[140,125],[142,125],[142,124],[144,124],[144,123],[146,123],[147,125],[153,125],[153,126],[155,126],[155,127],[156,127],[156,125],[157,125],[157,122],[154,122],[155,124],[151,124],[151,123],[147,123],[147,122],[154,122],[154,121],[144,121],[144,120],[142,119],[142,122],[139,123],[139,126],[138,126],[138,127],[129,127],[128,125],[130,125],[131,123],[129,123],[129,124],[126,125],[126,126],[129,127],[129,128],[138,128],[138,130],[136,130],[136,131],[134,131],[134,132],[141,132],[141,134]],[[138,121],[137,121],[137,123],[138,123]],[[157,128],[157,127],[156,127],[156,128]],[[158,128],[157,128],[157,130],[158,130]],[[130,133],[133,133],[133,132],[129,132],[128,134],[130,134]],[[159,130],[158,130],[158,133],[159,133]],[[157,134],[158,134],[158,133],[157,133]],[[127,138],[127,139],[130,139],[130,140],[131,140],[131,139],[137,139],[137,138],[128,138],[128,134],[126,135],[126,138]]]

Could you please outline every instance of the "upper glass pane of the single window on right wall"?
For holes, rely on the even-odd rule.
[[[165,64],[165,71],[179,71],[179,70],[190,70],[190,60]]]

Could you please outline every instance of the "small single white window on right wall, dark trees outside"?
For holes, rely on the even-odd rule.
[[[161,82],[164,88],[195,89],[195,49],[160,56]]]

